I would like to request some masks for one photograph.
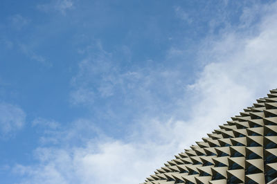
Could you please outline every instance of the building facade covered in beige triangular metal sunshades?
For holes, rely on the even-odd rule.
[[[275,183],[277,89],[184,149],[143,184]]]

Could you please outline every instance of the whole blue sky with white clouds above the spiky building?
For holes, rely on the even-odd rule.
[[[1,183],[143,183],[277,88],[274,1],[0,2]]]

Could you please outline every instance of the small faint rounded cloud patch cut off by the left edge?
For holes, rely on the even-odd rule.
[[[0,103],[1,138],[10,138],[25,125],[26,114],[13,104]]]

